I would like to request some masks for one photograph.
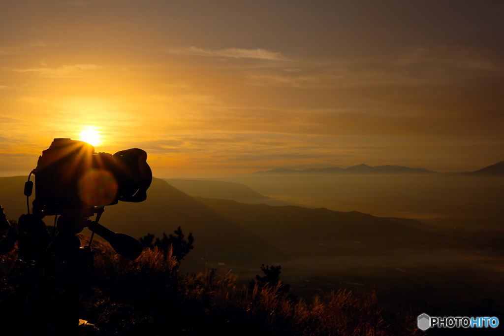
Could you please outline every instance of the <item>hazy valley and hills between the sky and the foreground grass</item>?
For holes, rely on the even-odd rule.
[[[259,265],[279,264],[284,281],[302,296],[376,288],[390,305],[409,300],[434,309],[450,305],[457,291],[458,300],[475,307],[490,297],[502,304],[493,295],[502,293],[504,281],[502,176],[253,174],[227,180],[154,179],[146,201],[108,206],[100,222],[138,238],[180,226],[185,235],[193,233],[196,247],[182,270],[232,269],[246,283]],[[26,212],[25,181],[0,178],[10,218]],[[469,287],[453,285],[461,276]],[[491,280],[476,290],[480,277]],[[429,290],[412,298],[416,286]],[[394,299],[400,297],[406,301]]]

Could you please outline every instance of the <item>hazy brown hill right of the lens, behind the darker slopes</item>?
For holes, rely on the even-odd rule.
[[[228,199],[247,204],[288,205],[286,202],[261,195],[249,187],[235,182],[186,179],[164,180],[190,196]]]

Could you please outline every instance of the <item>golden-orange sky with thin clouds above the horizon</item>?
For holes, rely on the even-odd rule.
[[[0,0],[0,176],[53,138],[156,177],[504,160],[501,1]]]

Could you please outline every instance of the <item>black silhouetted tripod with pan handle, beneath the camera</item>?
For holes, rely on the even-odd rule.
[[[55,218],[52,237],[41,216],[21,216],[18,265],[25,271],[21,285],[3,303],[3,307],[10,308],[11,314],[7,313],[7,316],[11,315],[10,322],[14,324],[8,335],[97,334],[98,328],[79,319],[80,296],[93,274],[95,251],[91,249],[91,243],[94,233],[129,259],[136,259],[143,248],[134,238],[100,225],[98,220],[103,208],[96,210],[96,220],[75,214]],[[87,246],[81,246],[76,234],[85,227],[92,231],[92,236]]]

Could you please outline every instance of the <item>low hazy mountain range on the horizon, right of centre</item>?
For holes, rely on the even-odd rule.
[[[410,167],[404,167],[404,166],[399,166],[399,165],[377,165],[377,166],[370,166],[367,164],[359,164],[359,165],[354,165],[350,166],[347,168],[340,168],[340,167],[329,167],[329,168],[322,168],[322,169],[305,169],[305,170],[290,170],[290,169],[274,169],[270,171],[260,171],[256,172],[254,174],[258,175],[274,175],[274,174],[417,174],[417,175],[424,175],[424,174],[439,174],[437,172],[429,171],[424,168],[410,168]]]

